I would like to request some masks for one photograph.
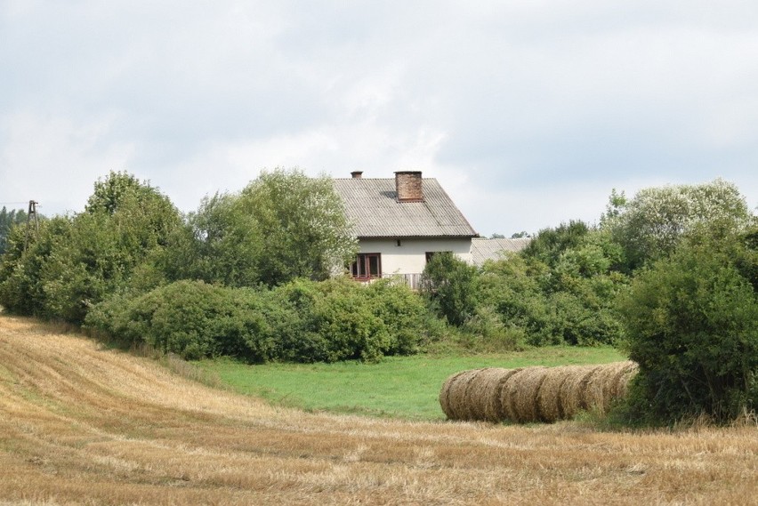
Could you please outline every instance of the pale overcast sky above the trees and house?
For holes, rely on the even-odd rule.
[[[755,208],[758,2],[0,0],[0,205],[278,166],[423,171],[483,236],[717,177]]]

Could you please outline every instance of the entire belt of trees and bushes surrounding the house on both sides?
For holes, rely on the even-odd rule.
[[[84,212],[44,219],[30,242],[18,225],[3,237],[6,310],[182,357],[611,344],[640,365],[630,419],[727,420],[758,398],[758,228],[725,181],[614,191],[596,224],[540,230],[480,268],[434,255],[422,293],[335,276],[356,239],[332,181],[298,170],[264,172],[188,214],[148,181],[109,173]]]

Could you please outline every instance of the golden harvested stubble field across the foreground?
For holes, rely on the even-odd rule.
[[[306,414],[0,315],[0,470],[3,504],[749,504],[758,429]]]

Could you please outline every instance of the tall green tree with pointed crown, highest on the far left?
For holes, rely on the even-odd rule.
[[[85,213],[74,217],[44,269],[47,316],[75,323],[111,293],[164,283],[147,262],[169,245],[181,215],[168,197],[128,173],[109,173],[94,185]]]

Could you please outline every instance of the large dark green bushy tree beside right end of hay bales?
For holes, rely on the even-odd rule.
[[[727,421],[758,407],[754,234],[690,229],[670,257],[635,277],[621,304],[626,348],[640,365],[631,413]]]

